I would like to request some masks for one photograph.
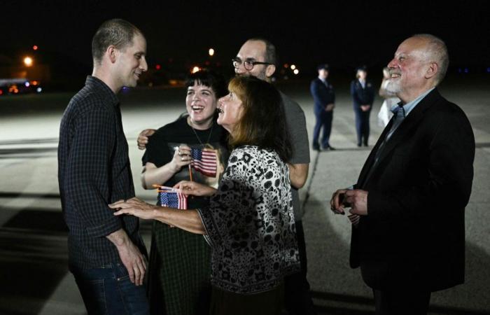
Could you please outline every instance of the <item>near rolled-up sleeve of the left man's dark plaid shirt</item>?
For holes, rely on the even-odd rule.
[[[105,237],[123,228],[107,204],[111,154],[116,141],[115,116],[94,106],[73,121],[75,132],[67,159],[66,194],[88,237]]]

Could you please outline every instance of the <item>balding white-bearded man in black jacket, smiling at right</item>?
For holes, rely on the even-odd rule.
[[[350,263],[372,288],[376,314],[427,314],[431,292],[464,282],[475,138],[465,113],[437,90],[448,64],[435,36],[398,46],[388,89],[402,102],[354,189],[330,201],[337,214],[350,207]]]

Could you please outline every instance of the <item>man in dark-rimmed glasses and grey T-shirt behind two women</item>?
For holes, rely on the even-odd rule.
[[[264,38],[248,39],[232,59],[237,76],[255,76],[270,82],[276,71],[276,48]],[[287,276],[284,283],[284,299],[289,314],[316,314],[309,283],[307,281],[307,254],[304,243],[302,211],[298,190],[308,177],[309,145],[304,112],[293,99],[281,92],[286,122],[293,143],[293,158],[288,161],[297,245],[300,249],[301,271]]]

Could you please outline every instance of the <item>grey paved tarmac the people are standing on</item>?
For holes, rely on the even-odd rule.
[[[468,115],[477,142],[475,179],[466,208],[466,283],[433,293],[430,314],[490,314],[490,76],[450,78],[441,92]],[[300,103],[311,137],[314,116],[308,83],[281,90]],[[59,120],[71,93],[0,97],[0,314],[85,314],[67,270],[66,227],[57,188]],[[184,108],[181,89],[133,90],[120,95],[123,124],[137,196],[154,202],[154,191],[139,186],[141,151],[136,137],[146,127],[174,120]],[[381,133],[371,116],[370,144]],[[320,314],[374,314],[372,293],[348,262],[350,226],[330,213],[327,201],[337,188],[357,179],[368,149],[356,147],[353,111],[346,85],[337,86],[331,145],[311,151],[309,181],[302,189],[306,214],[309,281]],[[370,147],[371,148],[371,147]],[[142,234],[150,248],[151,225]]]

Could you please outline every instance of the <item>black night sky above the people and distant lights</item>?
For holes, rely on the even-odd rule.
[[[468,4],[468,3],[470,4]],[[18,62],[38,45],[45,62],[90,71],[90,42],[109,18],[137,25],[148,41],[150,66],[170,61],[230,59],[251,36],[269,38],[281,63],[303,73],[316,64],[350,71],[359,64],[383,66],[398,44],[416,33],[440,36],[451,67],[490,67],[487,1],[1,1],[0,64]],[[75,72],[76,72],[75,71]]]

